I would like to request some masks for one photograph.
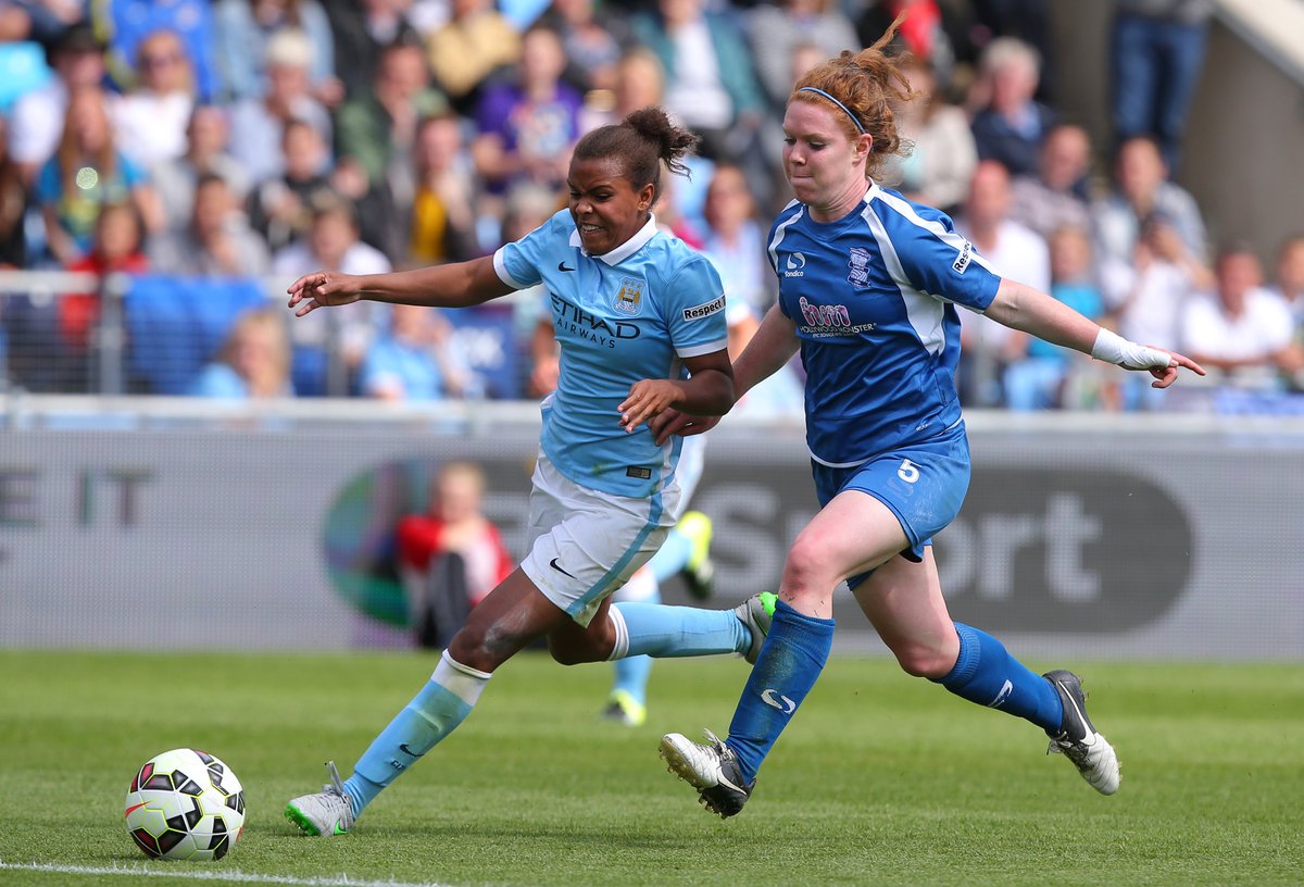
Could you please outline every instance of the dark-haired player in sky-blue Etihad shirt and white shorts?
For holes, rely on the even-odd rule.
[[[570,207],[515,243],[456,265],[289,286],[303,317],[359,299],[458,308],[540,283],[561,342],[557,390],[542,403],[529,498],[529,553],[471,610],[424,687],[340,781],[293,798],[310,835],[347,832],[372,800],[471,712],[496,668],[539,638],[563,664],[648,654],[755,659],[750,610],[621,604],[617,591],[679,519],[682,438],[647,421],[672,406],[719,415],[733,404],[725,299],[704,257],[651,214],[662,163],[683,172],[696,137],[660,108],[599,128],[575,146]]]

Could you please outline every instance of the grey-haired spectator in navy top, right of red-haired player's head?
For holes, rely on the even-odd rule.
[[[992,40],[979,61],[971,98],[978,157],[1015,176],[1037,172],[1037,155],[1055,124],[1055,112],[1033,98],[1039,74],[1037,51],[1012,37]]]

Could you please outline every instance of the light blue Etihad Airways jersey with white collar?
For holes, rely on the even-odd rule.
[[[494,253],[503,283],[542,283],[561,343],[557,390],[544,399],[540,446],[591,489],[648,497],[670,479],[682,438],[657,446],[626,433],[617,406],[643,378],[686,378],[683,357],[725,350],[720,275],[655,219],[605,256],[589,256],[569,210]]]

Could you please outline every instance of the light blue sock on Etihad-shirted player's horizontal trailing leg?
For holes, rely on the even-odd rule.
[[[733,610],[640,601],[612,605],[610,617],[615,626],[612,659],[742,654],[751,647],[751,631]]]

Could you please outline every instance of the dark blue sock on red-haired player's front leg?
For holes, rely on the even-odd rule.
[[[775,620],[738,699],[726,740],[748,783],[815,686],[832,647],[833,620],[805,616],[784,601],[775,605]]]

